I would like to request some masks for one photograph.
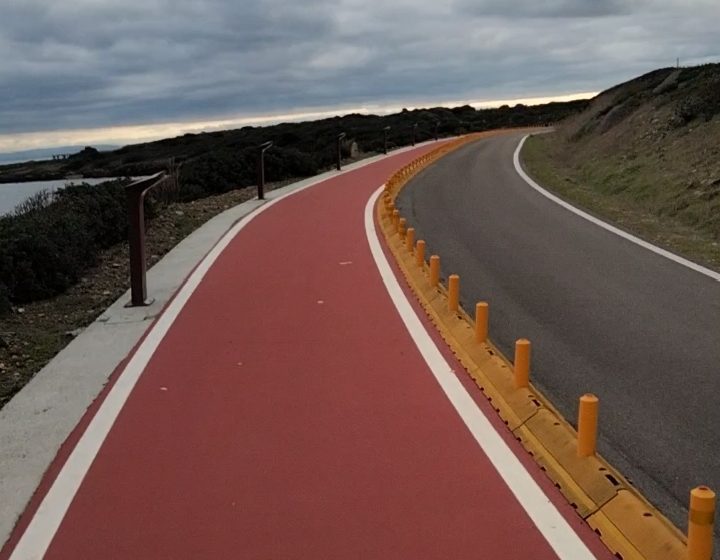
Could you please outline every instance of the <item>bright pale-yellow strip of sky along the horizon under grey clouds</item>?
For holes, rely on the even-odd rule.
[[[580,92],[539,97],[515,97],[494,100],[450,100],[427,103],[393,102],[387,105],[362,104],[354,107],[301,108],[285,113],[267,115],[228,116],[225,118],[195,121],[177,121],[126,126],[110,126],[85,129],[49,130],[0,134],[0,155],[21,157],[22,154],[43,152],[68,147],[116,146],[115,149],[143,142],[174,138],[188,133],[217,132],[243,126],[271,126],[282,122],[314,121],[348,114],[388,115],[403,109],[430,109],[434,107],[460,107],[470,105],[475,109],[493,109],[502,105],[542,105],[552,102],[568,102],[590,99],[599,92]],[[1,159],[1,158],[0,158]],[[22,160],[21,160],[22,161]],[[7,162],[10,163],[10,162]],[[13,162],[15,163],[15,162]]]

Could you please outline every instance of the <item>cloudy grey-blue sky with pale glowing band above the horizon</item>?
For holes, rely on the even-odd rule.
[[[720,62],[717,0],[0,0],[0,151],[588,96]]]

